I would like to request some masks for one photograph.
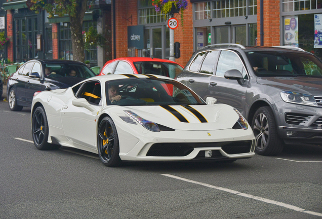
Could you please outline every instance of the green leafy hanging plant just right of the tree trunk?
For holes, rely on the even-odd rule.
[[[94,27],[90,27],[87,32],[83,31],[83,39],[86,50],[93,48],[93,46],[105,48],[106,40],[103,34],[98,33]]]

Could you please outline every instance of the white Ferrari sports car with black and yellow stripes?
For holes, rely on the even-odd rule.
[[[206,102],[163,76],[98,76],[35,93],[33,142],[39,150],[64,146],[96,153],[106,166],[254,156],[255,137],[244,117],[214,98]]]

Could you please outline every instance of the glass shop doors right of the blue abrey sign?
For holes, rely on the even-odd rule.
[[[169,27],[153,26],[144,29],[143,57],[169,59],[170,57],[170,31]]]

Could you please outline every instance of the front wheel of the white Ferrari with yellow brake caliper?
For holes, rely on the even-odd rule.
[[[113,120],[105,117],[99,124],[97,133],[98,155],[105,166],[118,166],[122,163],[119,158],[119,143]]]

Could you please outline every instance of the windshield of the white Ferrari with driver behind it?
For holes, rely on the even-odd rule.
[[[108,105],[206,104],[183,84],[155,77],[107,81],[105,90]]]

